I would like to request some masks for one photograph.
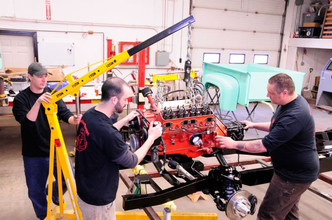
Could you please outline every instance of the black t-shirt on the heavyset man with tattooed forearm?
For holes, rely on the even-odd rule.
[[[262,143],[271,154],[275,172],[285,181],[309,183],[317,179],[315,124],[310,106],[302,96],[278,105],[270,133]]]

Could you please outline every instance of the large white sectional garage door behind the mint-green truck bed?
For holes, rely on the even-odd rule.
[[[244,64],[268,55],[268,65],[277,66],[284,8],[284,0],[194,1],[192,66],[202,67],[204,53],[220,54],[220,64],[230,54],[244,54]]]

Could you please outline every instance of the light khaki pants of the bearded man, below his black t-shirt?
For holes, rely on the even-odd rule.
[[[115,201],[107,205],[90,205],[79,196],[78,203],[84,220],[115,220]]]

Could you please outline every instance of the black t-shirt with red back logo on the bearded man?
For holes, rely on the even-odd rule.
[[[111,119],[90,108],[77,132],[75,180],[80,198],[91,205],[113,202],[119,184],[119,164],[134,168],[137,162],[137,156],[129,151]]]

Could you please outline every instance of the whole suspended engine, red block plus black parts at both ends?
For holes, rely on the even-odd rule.
[[[163,108],[139,110],[141,117],[129,122],[130,147],[133,152],[147,140],[148,124],[152,121],[161,123],[163,127],[162,138],[155,141],[149,153],[153,158],[156,154],[181,154],[195,158],[212,154],[216,150],[214,139],[217,135],[229,136],[234,140],[243,138],[243,124],[223,124],[215,117],[208,103],[193,103],[190,99],[182,99],[166,101],[164,105]]]

